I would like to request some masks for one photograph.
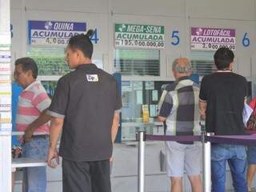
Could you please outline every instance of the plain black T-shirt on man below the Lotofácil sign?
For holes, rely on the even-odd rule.
[[[246,94],[246,78],[241,75],[217,72],[202,78],[200,99],[207,101],[206,130],[221,135],[244,134]]]

